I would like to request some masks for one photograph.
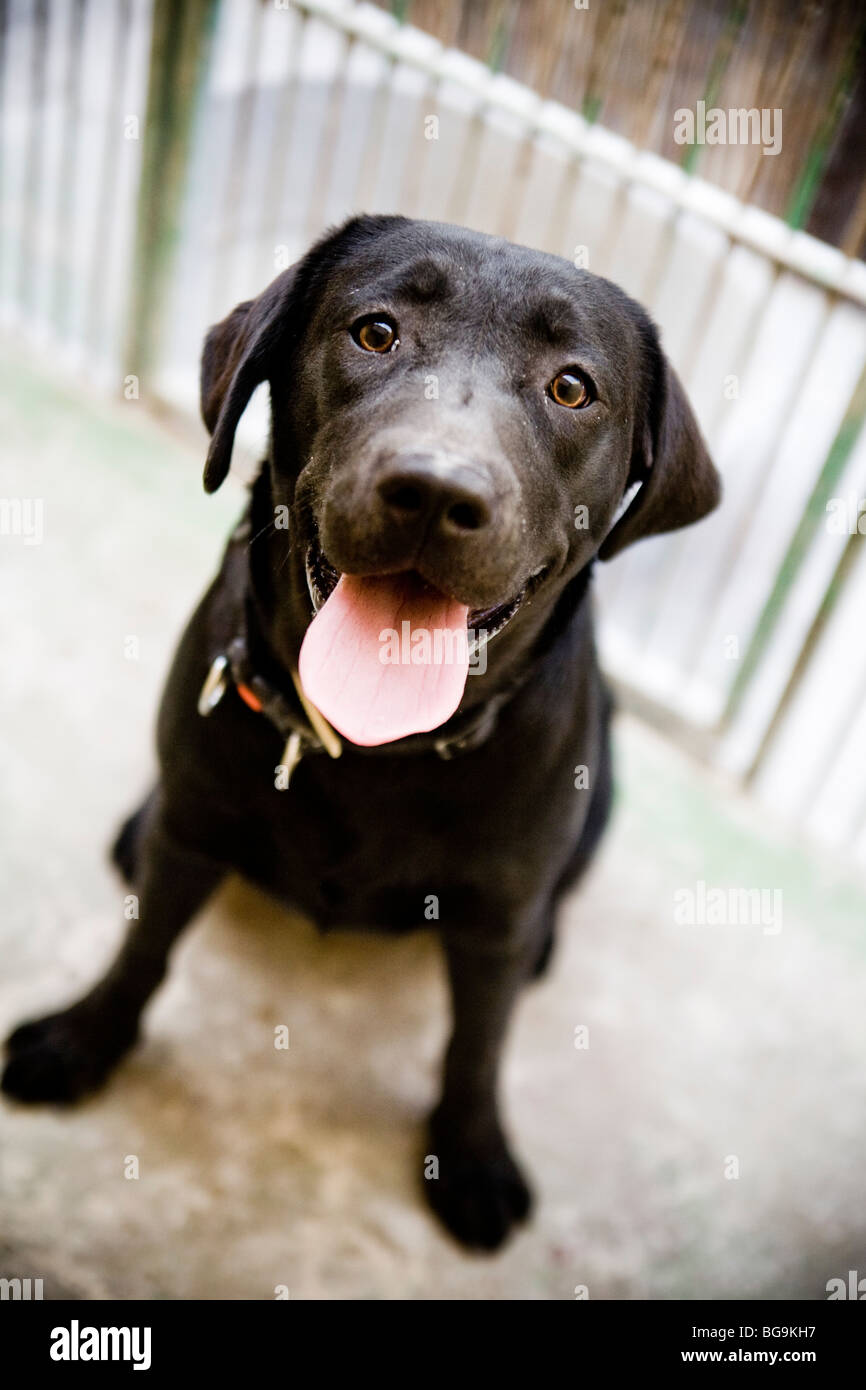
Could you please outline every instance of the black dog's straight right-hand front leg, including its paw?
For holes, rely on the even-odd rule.
[[[530,1188],[502,1133],[499,1054],[528,965],[535,919],[499,940],[443,931],[453,1001],[442,1099],[431,1116],[427,1198],[463,1244],[495,1250],[531,1205]],[[539,919],[541,920],[541,919]]]

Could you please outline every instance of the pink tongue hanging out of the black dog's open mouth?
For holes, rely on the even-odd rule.
[[[414,574],[343,574],[300,648],[304,695],[363,748],[438,728],[463,698],[467,614]]]

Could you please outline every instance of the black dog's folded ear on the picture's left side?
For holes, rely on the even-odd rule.
[[[215,324],[202,352],[202,418],[211,432],[204,491],[215,492],[232,461],[238,421],[256,386],[267,381],[292,320],[296,271],[285,270],[259,299],[246,300]]]

